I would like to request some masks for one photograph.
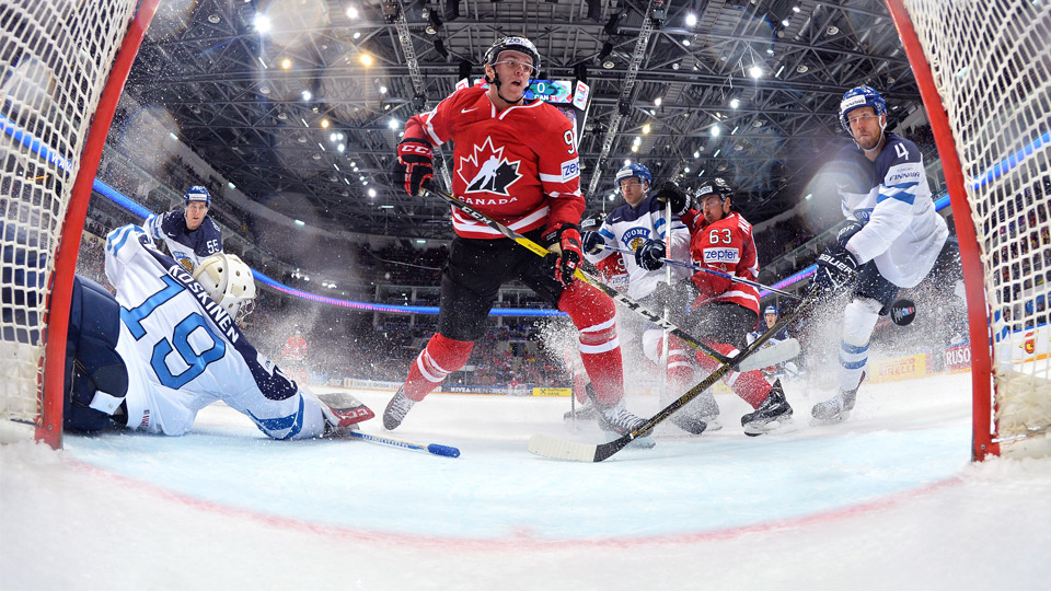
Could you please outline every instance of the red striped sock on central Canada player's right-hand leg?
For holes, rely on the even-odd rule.
[[[594,396],[603,405],[624,397],[624,368],[616,338],[613,300],[598,289],[574,281],[562,291],[558,310],[580,331],[580,360],[588,370]]]

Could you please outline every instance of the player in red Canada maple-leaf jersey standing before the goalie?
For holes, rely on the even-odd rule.
[[[415,403],[466,363],[474,341],[485,333],[500,286],[518,279],[573,320],[602,424],[626,433],[643,420],[624,408],[613,300],[573,281],[580,263],[578,224],[585,207],[573,127],[555,107],[524,99],[540,67],[540,54],[529,39],[497,40],[484,62],[488,88],[461,89],[429,113],[408,119],[397,147],[395,178],[404,179],[411,195],[418,195],[434,176],[434,147],[452,141],[452,193],[550,245],[552,254],[538,257],[452,209],[457,237],[441,275],[438,332],[388,404],[383,426],[396,428]]]

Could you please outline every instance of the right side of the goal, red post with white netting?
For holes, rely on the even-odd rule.
[[[991,399],[975,396],[974,456],[1047,455],[1051,2],[888,0],[888,7],[927,113],[940,117],[944,106],[947,115],[944,137],[938,137],[937,117],[931,117],[946,176],[956,161],[946,158],[947,147],[955,150],[962,173],[961,186],[949,187],[954,217],[965,271],[970,246],[977,251],[973,266],[980,265],[985,299],[980,313],[986,332],[975,331],[971,322],[972,358],[986,338],[991,358],[988,369],[973,368],[984,374],[975,375],[975,392],[983,386],[980,380],[986,391],[992,384]],[[910,50],[911,38],[922,55]],[[970,229],[961,228],[968,222]],[[973,313],[970,294],[968,305]]]

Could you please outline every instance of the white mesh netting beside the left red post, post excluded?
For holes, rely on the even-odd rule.
[[[41,426],[49,294],[56,280],[71,280],[53,277],[56,253],[92,117],[136,4],[0,2],[0,430],[7,438],[19,431],[14,424]]]

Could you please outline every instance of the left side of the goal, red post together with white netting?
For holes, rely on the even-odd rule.
[[[66,331],[92,182],[158,3],[0,4],[3,433],[23,422],[61,445]]]

